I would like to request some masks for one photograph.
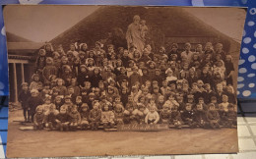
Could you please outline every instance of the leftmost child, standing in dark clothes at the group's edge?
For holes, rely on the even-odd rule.
[[[29,87],[28,82],[22,83],[22,91],[19,93],[18,100],[22,105],[23,108],[23,115],[25,122],[30,121],[29,111],[28,111],[28,99],[32,96]]]

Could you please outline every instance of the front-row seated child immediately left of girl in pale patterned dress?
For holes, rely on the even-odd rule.
[[[101,118],[101,110],[99,109],[99,103],[96,101],[94,103],[93,109],[90,111],[89,120],[91,122],[91,129],[97,130]]]

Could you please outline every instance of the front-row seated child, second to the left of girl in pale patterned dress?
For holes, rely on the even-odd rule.
[[[80,115],[81,115],[81,129],[87,130],[89,127],[89,106],[87,103],[83,103],[80,109]]]

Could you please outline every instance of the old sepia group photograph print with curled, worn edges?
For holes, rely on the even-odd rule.
[[[237,153],[245,8],[7,5],[7,157]]]

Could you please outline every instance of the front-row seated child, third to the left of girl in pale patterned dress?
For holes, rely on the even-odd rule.
[[[77,131],[78,126],[81,124],[81,116],[78,112],[77,106],[73,105],[71,112],[69,113],[70,125],[69,128],[71,131]]]

